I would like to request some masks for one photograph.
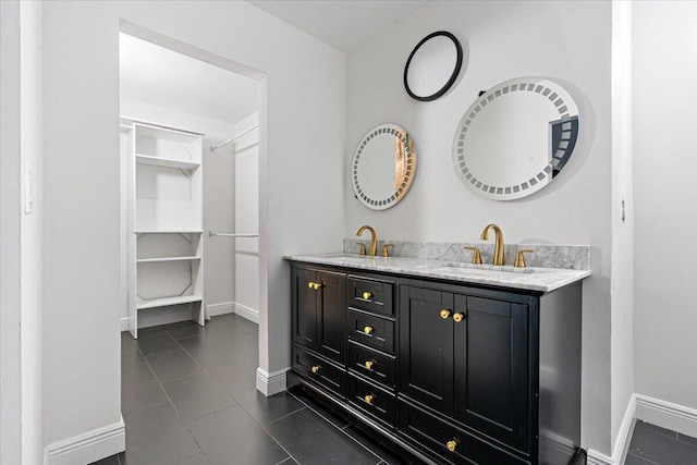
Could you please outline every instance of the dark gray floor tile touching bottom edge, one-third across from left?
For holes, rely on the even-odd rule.
[[[276,465],[288,457],[288,453],[239,405],[189,421],[188,428],[215,465]]]

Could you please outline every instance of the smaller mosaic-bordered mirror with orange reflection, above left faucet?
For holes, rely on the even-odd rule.
[[[384,210],[406,195],[415,172],[412,137],[396,124],[380,124],[356,147],[351,169],[353,189],[366,207]]]

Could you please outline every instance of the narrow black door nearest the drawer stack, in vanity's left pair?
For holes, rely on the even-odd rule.
[[[315,348],[322,355],[346,363],[346,276],[318,271],[319,298]]]

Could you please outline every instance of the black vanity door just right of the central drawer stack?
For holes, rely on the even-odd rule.
[[[453,294],[400,287],[400,392],[453,413]]]

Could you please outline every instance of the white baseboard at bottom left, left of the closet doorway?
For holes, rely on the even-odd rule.
[[[46,446],[44,463],[49,465],[87,465],[126,450],[123,417],[113,425],[93,429]]]

